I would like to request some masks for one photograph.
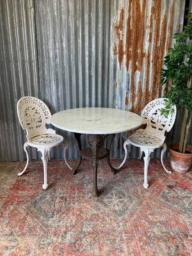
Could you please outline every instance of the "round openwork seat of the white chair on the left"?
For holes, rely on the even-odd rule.
[[[35,136],[28,141],[28,144],[32,147],[54,147],[59,145],[63,141],[63,137],[58,134],[42,134]]]

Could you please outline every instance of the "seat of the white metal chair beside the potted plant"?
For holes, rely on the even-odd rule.
[[[142,146],[146,148],[149,148],[149,147],[159,148],[163,144],[162,141],[159,140],[159,138],[157,138],[156,136],[152,136],[150,134],[143,134],[143,133],[139,134],[137,132],[129,136],[128,140],[129,140],[129,143],[131,143],[136,147]]]

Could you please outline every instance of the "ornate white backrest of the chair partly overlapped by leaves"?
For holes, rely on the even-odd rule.
[[[143,133],[156,136],[162,142],[165,139],[164,132],[169,132],[172,129],[177,113],[176,106],[173,105],[172,108],[175,109],[174,113],[170,113],[168,117],[161,115],[160,110],[165,108],[164,102],[165,98],[152,100],[145,106],[141,113],[143,124],[147,124]]]

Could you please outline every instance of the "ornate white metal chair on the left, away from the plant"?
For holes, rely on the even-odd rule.
[[[24,151],[27,156],[27,163],[24,170],[18,175],[22,175],[29,163],[29,154],[27,147],[35,147],[42,153],[42,161],[44,164],[44,184],[43,188],[48,187],[47,184],[47,162],[49,157],[49,151],[52,147],[65,143],[65,152],[68,148],[67,142],[63,136],[56,134],[53,129],[47,129],[45,124],[50,124],[51,112],[45,103],[35,97],[27,96],[22,97],[17,102],[17,115],[19,122],[24,131],[26,131],[27,141],[24,143]]]

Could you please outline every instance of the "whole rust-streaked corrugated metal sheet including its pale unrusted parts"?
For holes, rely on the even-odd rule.
[[[173,34],[182,30],[185,2],[122,0],[114,1],[115,6],[111,8],[110,106],[140,114],[150,100],[163,95],[159,72]],[[118,136],[121,148],[129,134]],[[172,138],[172,133],[168,136]],[[137,153],[132,148],[131,157]]]

